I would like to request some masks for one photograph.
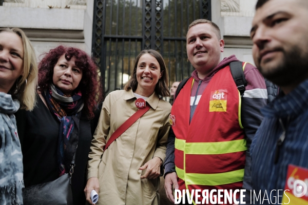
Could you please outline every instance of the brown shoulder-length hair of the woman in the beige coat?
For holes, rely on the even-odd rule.
[[[136,91],[137,86],[138,86],[137,74],[136,74],[137,67],[138,67],[138,61],[142,55],[147,54],[147,53],[157,59],[159,66],[160,66],[160,71],[162,72],[162,77],[158,80],[158,83],[155,86],[155,92],[162,97],[170,96],[170,92],[168,88],[169,86],[168,85],[168,71],[166,69],[165,61],[159,52],[152,50],[152,49],[143,50],[136,57],[133,72],[127,84],[125,85],[124,90],[129,91],[130,89],[132,89],[132,91]]]

